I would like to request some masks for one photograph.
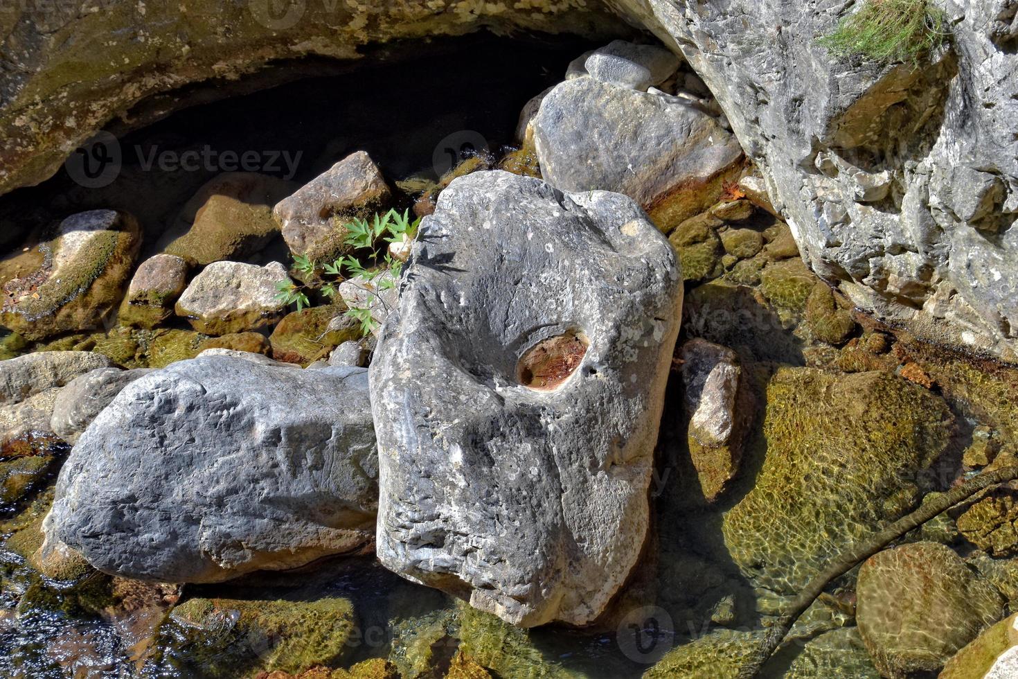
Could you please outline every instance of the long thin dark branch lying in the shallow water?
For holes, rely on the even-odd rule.
[[[944,495],[930,500],[911,514],[874,532],[848,552],[840,555],[824,572],[814,577],[806,585],[806,588],[796,597],[795,601],[789,605],[778,621],[768,629],[764,641],[760,642],[759,647],[753,652],[746,661],[746,664],[739,670],[736,679],[753,679],[756,676],[768,659],[781,646],[788,632],[792,629],[792,625],[795,624],[795,621],[827,589],[833,580],[841,577],[869,557],[882,551],[890,543],[914,530],[955,505],[964,502],[979,491],[985,490],[991,486],[1006,484],[1015,478],[1018,478],[1018,466],[1004,467],[996,471],[980,473],[978,476],[970,478],[961,486],[953,488]]]

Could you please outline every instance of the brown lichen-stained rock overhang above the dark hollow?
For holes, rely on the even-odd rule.
[[[0,193],[52,176],[137,102],[270,61],[356,58],[373,43],[488,27],[591,38],[620,21],[585,0],[83,0],[0,7]],[[170,101],[164,108],[171,108]]]

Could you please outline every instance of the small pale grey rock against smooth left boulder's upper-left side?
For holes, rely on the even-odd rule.
[[[53,433],[69,444],[77,443],[81,432],[124,387],[151,372],[148,367],[132,371],[99,367],[74,378],[53,402],[50,417]]]

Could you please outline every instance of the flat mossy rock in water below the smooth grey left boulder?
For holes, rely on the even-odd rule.
[[[195,643],[188,662],[208,677],[250,677],[260,671],[299,672],[341,665],[356,628],[346,599],[259,601],[191,599],[170,615]],[[209,641],[214,638],[215,643]]]

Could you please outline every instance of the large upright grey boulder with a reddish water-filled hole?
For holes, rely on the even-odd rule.
[[[591,622],[646,533],[674,250],[626,196],[477,172],[403,280],[370,369],[379,559],[517,625]]]

